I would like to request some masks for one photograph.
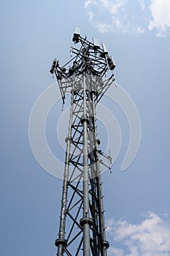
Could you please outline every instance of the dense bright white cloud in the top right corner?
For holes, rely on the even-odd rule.
[[[170,1],[151,0],[150,12],[152,20],[150,20],[148,29],[156,29],[158,37],[167,37],[170,31]]]

